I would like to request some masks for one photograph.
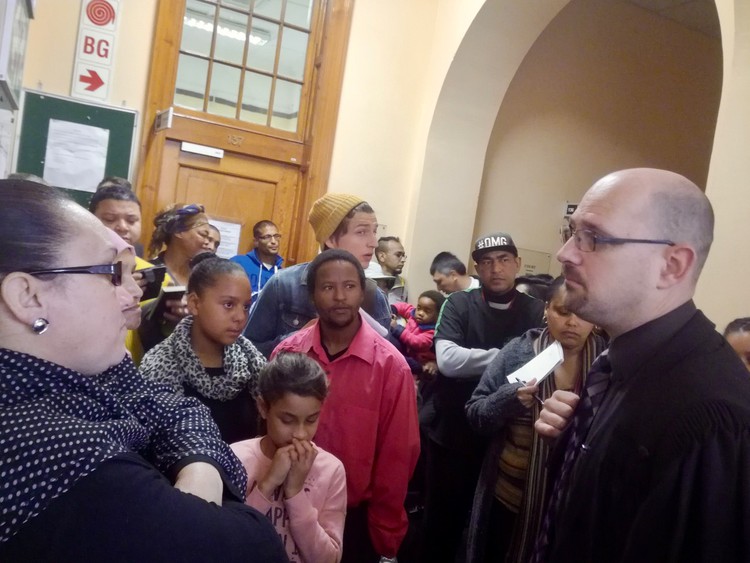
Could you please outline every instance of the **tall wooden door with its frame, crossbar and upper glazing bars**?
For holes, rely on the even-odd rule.
[[[227,13],[234,9],[232,2],[189,1],[193,8],[216,6]],[[295,2],[274,0],[262,4],[263,10],[272,4],[282,7],[278,18],[284,29],[294,27],[287,26],[284,10],[291,10]],[[305,4],[315,9],[298,126],[284,131],[175,103],[178,58],[191,55],[180,52],[186,0],[160,0],[137,182],[145,244],[160,209],[177,202],[201,203],[209,217],[241,223],[241,253],[252,244],[255,222],[270,219],[284,235],[281,253],[286,265],[314,256],[317,243],[306,218],[312,203],[327,191],[353,0]],[[212,29],[218,33],[220,26]],[[279,47],[277,56],[280,52]],[[171,126],[156,130],[157,114],[170,107]],[[183,142],[220,149],[223,157],[182,151]]]

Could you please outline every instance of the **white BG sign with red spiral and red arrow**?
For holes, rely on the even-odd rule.
[[[107,100],[120,0],[82,0],[71,96]]]

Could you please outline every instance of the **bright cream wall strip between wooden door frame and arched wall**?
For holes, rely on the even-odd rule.
[[[434,32],[432,0],[354,3],[329,190],[364,197],[383,234],[404,235]]]

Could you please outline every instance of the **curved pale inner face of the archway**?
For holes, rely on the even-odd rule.
[[[468,262],[485,153],[506,90],[528,50],[568,0],[488,0],[442,81],[409,210],[411,294],[434,287],[432,258],[450,250]]]

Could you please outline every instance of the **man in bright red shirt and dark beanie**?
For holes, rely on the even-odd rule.
[[[274,350],[307,354],[328,374],[315,442],[346,469],[343,563],[396,555],[408,528],[404,499],[419,456],[414,381],[403,356],[362,322],[364,286],[354,256],[319,254],[307,272],[318,319]]]

